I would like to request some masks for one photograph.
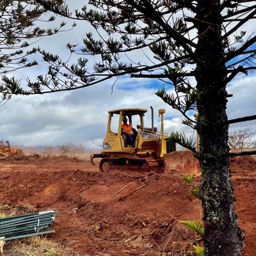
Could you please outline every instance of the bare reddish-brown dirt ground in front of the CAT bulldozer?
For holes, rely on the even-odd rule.
[[[256,161],[234,157],[231,170],[243,255],[255,255]],[[99,173],[87,161],[42,157],[2,161],[0,171],[1,204],[17,215],[56,211],[56,232],[48,238],[72,248],[74,256],[195,255],[192,244],[196,238],[200,243],[178,223],[202,218],[181,173]]]

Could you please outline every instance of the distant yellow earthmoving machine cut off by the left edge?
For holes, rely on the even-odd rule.
[[[6,144],[4,144],[4,140],[0,141],[0,159],[21,159],[25,156],[22,149],[18,147],[12,147],[10,146],[9,140],[5,141]]]

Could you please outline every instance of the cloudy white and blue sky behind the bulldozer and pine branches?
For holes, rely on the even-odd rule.
[[[74,6],[78,2],[72,1]],[[251,33],[256,30],[255,26],[248,26],[247,29]],[[81,41],[83,33],[88,30],[88,25],[79,24],[72,31],[42,39],[39,44],[65,58],[65,44]],[[43,64],[37,67],[37,71],[43,69]],[[12,75],[25,80],[26,77],[34,77],[34,69],[23,69]],[[255,115],[255,80],[256,72],[252,72],[247,77],[239,75],[228,85],[228,94],[233,94],[227,103],[228,118]],[[146,108],[146,126],[150,127],[150,106],[154,108],[154,126],[160,127],[158,110],[165,108],[165,132],[178,130],[195,138],[192,129],[181,124],[183,118],[178,110],[173,110],[155,95],[157,89],[164,86],[159,81],[119,78],[112,90],[114,81],[75,91],[12,97],[1,106],[0,140],[10,140],[11,145],[19,146],[59,146],[72,142],[92,149],[96,147],[94,143],[100,143],[105,136],[108,110]],[[255,127],[255,121],[240,126]]]

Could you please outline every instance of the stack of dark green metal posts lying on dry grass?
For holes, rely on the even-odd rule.
[[[0,241],[53,233],[49,228],[55,217],[55,211],[42,211],[0,219]]]

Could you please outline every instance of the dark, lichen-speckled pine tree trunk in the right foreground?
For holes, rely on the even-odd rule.
[[[225,156],[229,151],[228,126],[224,124],[227,121],[227,91],[219,1],[202,0],[198,10],[195,53],[199,61],[195,78],[200,91],[197,132],[200,136],[205,256],[238,256],[244,242],[233,206],[230,159]]]

